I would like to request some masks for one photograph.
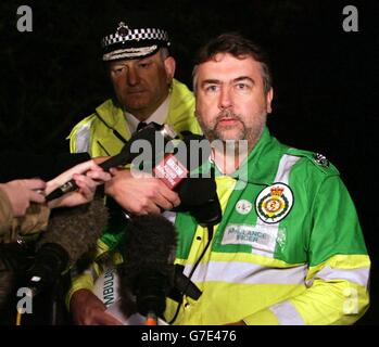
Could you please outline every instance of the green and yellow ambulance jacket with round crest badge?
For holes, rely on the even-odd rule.
[[[332,164],[280,144],[266,128],[239,170],[216,183],[223,219],[191,277],[202,295],[185,296],[174,324],[352,324],[364,314],[370,260]],[[209,233],[189,214],[176,215],[175,226],[175,261],[189,275]],[[100,264],[77,288],[90,288]],[[167,299],[167,322],[176,309]]]

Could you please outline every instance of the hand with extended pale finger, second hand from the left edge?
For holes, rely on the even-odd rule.
[[[49,181],[45,193],[51,193],[71,179],[75,180],[78,190],[49,202],[49,207],[70,207],[89,203],[94,196],[97,187],[109,181],[111,175],[99,167],[94,160],[88,160],[74,166]]]

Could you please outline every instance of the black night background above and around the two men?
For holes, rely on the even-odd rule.
[[[33,9],[33,33],[16,29],[22,4]],[[349,4],[358,10],[358,33],[342,28]],[[112,93],[99,37],[116,5],[153,9],[164,18],[176,77],[188,86],[193,52],[212,36],[237,30],[266,48],[275,88],[270,131],[283,143],[323,153],[340,169],[372,260],[371,308],[359,324],[378,324],[378,1],[2,0],[1,149],[67,151],[70,129]]]

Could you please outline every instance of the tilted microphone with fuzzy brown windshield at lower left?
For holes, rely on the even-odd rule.
[[[61,208],[50,217],[48,230],[36,248],[35,261],[26,271],[24,287],[36,295],[90,250],[108,223],[102,198],[87,205]]]

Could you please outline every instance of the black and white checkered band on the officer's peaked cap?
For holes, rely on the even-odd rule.
[[[127,35],[119,35],[118,33],[111,34],[102,39],[101,46],[104,49],[115,43],[127,41],[138,42],[143,40],[163,41],[167,42],[167,44],[169,46],[167,31],[156,28],[129,29]]]

